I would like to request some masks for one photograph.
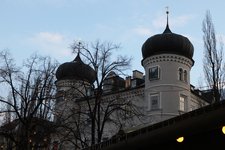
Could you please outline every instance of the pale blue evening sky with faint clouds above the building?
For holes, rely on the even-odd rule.
[[[224,0],[1,0],[0,50],[8,49],[18,63],[34,52],[63,63],[75,57],[69,48],[74,40],[110,41],[133,57],[132,70],[144,72],[141,46],[164,31],[167,6],[171,31],[194,45],[191,83],[199,86],[202,20],[210,10],[217,35],[225,39]]]

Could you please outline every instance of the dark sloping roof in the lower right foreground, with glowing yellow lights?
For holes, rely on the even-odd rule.
[[[118,135],[86,150],[221,147],[225,145],[225,135],[221,132],[225,125],[224,116],[225,101],[220,101],[139,130]],[[176,141],[176,138],[180,136],[184,137],[182,143]]]

